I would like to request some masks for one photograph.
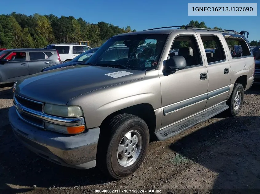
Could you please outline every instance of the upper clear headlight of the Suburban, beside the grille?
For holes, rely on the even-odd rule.
[[[83,116],[82,109],[79,106],[62,106],[62,105],[44,105],[44,112],[49,115],[62,117],[80,117]]]

